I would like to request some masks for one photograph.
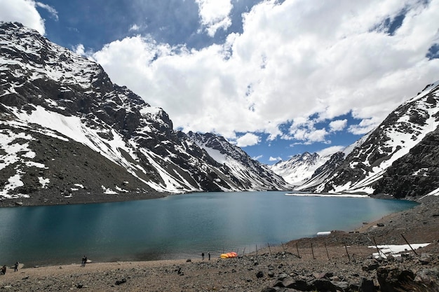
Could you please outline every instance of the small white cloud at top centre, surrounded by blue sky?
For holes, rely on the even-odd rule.
[[[201,25],[209,36],[215,36],[218,29],[226,30],[231,26],[229,14],[233,5],[230,0],[195,0]]]

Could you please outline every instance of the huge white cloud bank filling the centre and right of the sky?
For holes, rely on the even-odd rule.
[[[217,1],[197,3],[206,27],[219,19],[203,10]],[[402,26],[387,34],[386,18],[404,9]],[[94,57],[112,81],[165,109],[175,127],[227,139],[263,132],[311,144],[329,143],[328,131],[346,127],[363,134],[439,79],[439,60],[425,57],[439,39],[431,21],[439,19],[439,0],[267,0],[243,19],[243,33],[224,45],[187,50],[135,36]],[[314,127],[348,113],[361,122]],[[296,127],[283,133],[291,121]]]

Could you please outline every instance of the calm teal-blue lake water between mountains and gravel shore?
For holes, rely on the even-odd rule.
[[[245,253],[320,231],[352,230],[416,203],[285,192],[195,193],[156,200],[0,208],[0,264],[157,260]]]

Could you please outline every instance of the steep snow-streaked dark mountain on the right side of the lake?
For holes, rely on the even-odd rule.
[[[332,156],[310,181],[297,189],[318,193],[385,193],[393,197],[420,197],[437,192],[438,126],[439,82],[427,85],[419,95],[398,106],[375,130],[344,153]]]

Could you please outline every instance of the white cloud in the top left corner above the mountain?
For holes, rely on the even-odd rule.
[[[36,29],[41,35],[46,33],[44,20],[36,11],[33,0],[0,0],[0,20],[20,22],[26,27]]]

